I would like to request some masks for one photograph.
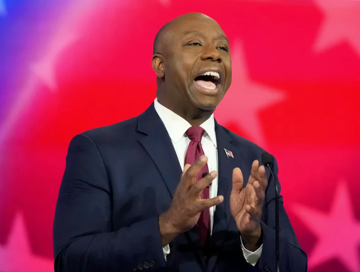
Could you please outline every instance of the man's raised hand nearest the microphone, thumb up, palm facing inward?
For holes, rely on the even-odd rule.
[[[251,167],[249,181],[244,188],[243,173],[240,168],[232,172],[230,210],[241,233],[244,246],[255,251],[261,245],[261,211],[267,187],[265,167],[255,160]],[[259,242],[260,245],[259,245]]]

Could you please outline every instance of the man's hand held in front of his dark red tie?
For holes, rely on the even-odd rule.
[[[159,229],[163,247],[177,235],[190,230],[198,221],[201,212],[220,204],[224,197],[218,195],[210,199],[201,199],[203,190],[216,178],[213,171],[196,182],[196,175],[208,162],[206,156],[200,157],[193,165],[186,164],[180,182],[175,189],[169,210],[159,215]]]

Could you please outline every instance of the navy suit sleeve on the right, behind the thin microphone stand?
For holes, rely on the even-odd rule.
[[[306,272],[307,257],[300,248],[294,229],[284,208],[283,197],[280,195],[281,187],[277,179],[278,167],[274,158],[273,172],[279,191],[279,269],[287,272]],[[263,221],[261,222],[263,234],[263,247],[259,259],[259,268],[265,272],[276,272],[275,264],[275,186],[272,178],[269,179],[266,189],[266,203]]]

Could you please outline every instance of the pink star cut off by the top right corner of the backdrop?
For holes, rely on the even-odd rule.
[[[339,43],[348,43],[360,56],[360,1],[315,0],[324,19],[314,50],[322,51]]]

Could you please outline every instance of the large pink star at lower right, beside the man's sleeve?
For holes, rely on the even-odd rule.
[[[303,205],[295,205],[293,211],[318,239],[309,268],[337,258],[348,271],[360,271],[360,222],[355,219],[345,181],[339,182],[329,213]]]

